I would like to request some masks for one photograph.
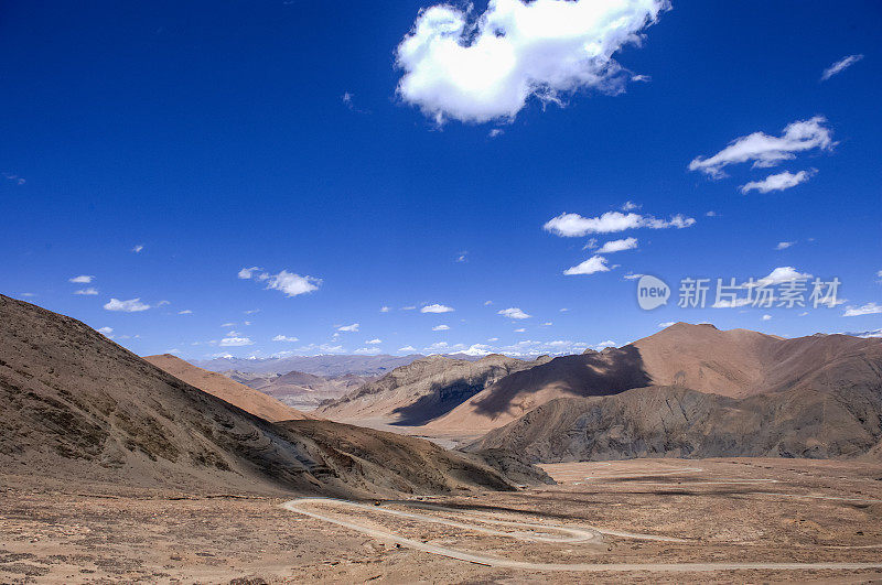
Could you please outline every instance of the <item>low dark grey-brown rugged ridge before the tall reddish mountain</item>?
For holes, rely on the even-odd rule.
[[[878,383],[792,388],[734,399],[682,387],[560,398],[469,448],[506,448],[534,462],[632,457],[879,456]]]

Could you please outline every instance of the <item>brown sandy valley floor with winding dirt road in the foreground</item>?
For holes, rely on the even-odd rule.
[[[282,507],[294,496],[122,492],[0,476],[0,582],[882,578],[879,464],[637,459],[545,468],[560,485],[293,506],[311,516]],[[583,572],[596,565],[607,572]]]

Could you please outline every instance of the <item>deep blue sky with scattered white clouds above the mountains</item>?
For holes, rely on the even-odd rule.
[[[191,358],[882,327],[878,2],[558,4],[4,2],[0,291]],[[845,302],[677,306],[776,269]]]

